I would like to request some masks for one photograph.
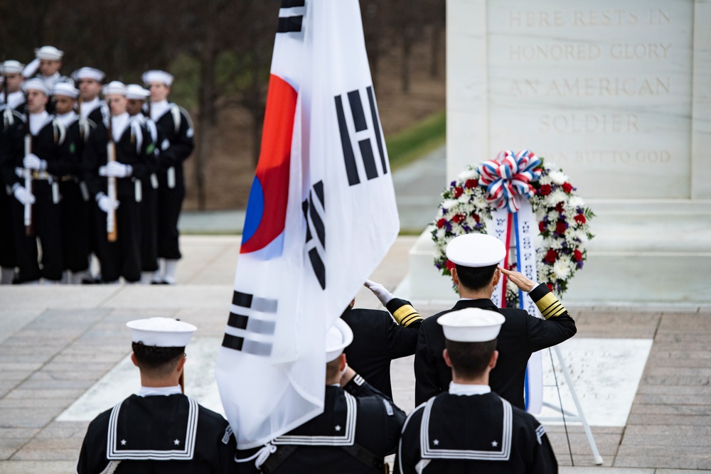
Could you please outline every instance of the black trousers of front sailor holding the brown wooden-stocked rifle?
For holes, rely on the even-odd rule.
[[[98,257],[103,281],[141,279],[141,206],[133,194],[118,195],[116,210],[116,242],[109,242],[106,232],[106,212],[94,205]]]

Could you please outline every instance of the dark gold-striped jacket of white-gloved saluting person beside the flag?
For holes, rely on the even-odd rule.
[[[422,316],[400,298],[392,298],[387,309],[392,316],[377,309],[346,308],[341,318],[353,330],[353,343],[343,351],[348,365],[392,398],[390,361],[415,354]]]

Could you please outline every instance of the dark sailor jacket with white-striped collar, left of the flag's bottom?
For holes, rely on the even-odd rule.
[[[234,473],[234,454],[220,414],[183,394],[132,395],[91,422],[77,474]]]

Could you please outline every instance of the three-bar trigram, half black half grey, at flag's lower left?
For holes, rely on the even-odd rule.
[[[271,339],[276,329],[277,303],[275,299],[260,298],[250,293],[232,293],[232,309],[223,347],[253,355],[272,354]],[[257,335],[256,338],[251,337]]]

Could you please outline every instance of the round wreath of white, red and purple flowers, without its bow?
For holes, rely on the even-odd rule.
[[[540,169],[535,171],[540,171],[540,178],[529,183],[533,188],[529,202],[540,231],[536,250],[538,282],[547,284],[561,296],[587,259],[585,244],[594,237],[588,221],[594,213],[575,193],[576,188],[561,168],[544,158],[538,159]],[[442,275],[450,275],[454,266],[445,253],[449,241],[471,232],[486,234],[486,225],[491,223],[495,207],[481,178],[481,167],[469,165],[442,193],[437,217],[432,222],[434,266]],[[508,269],[515,267],[513,263]],[[506,287],[506,306],[518,307],[518,288],[511,281]]]

